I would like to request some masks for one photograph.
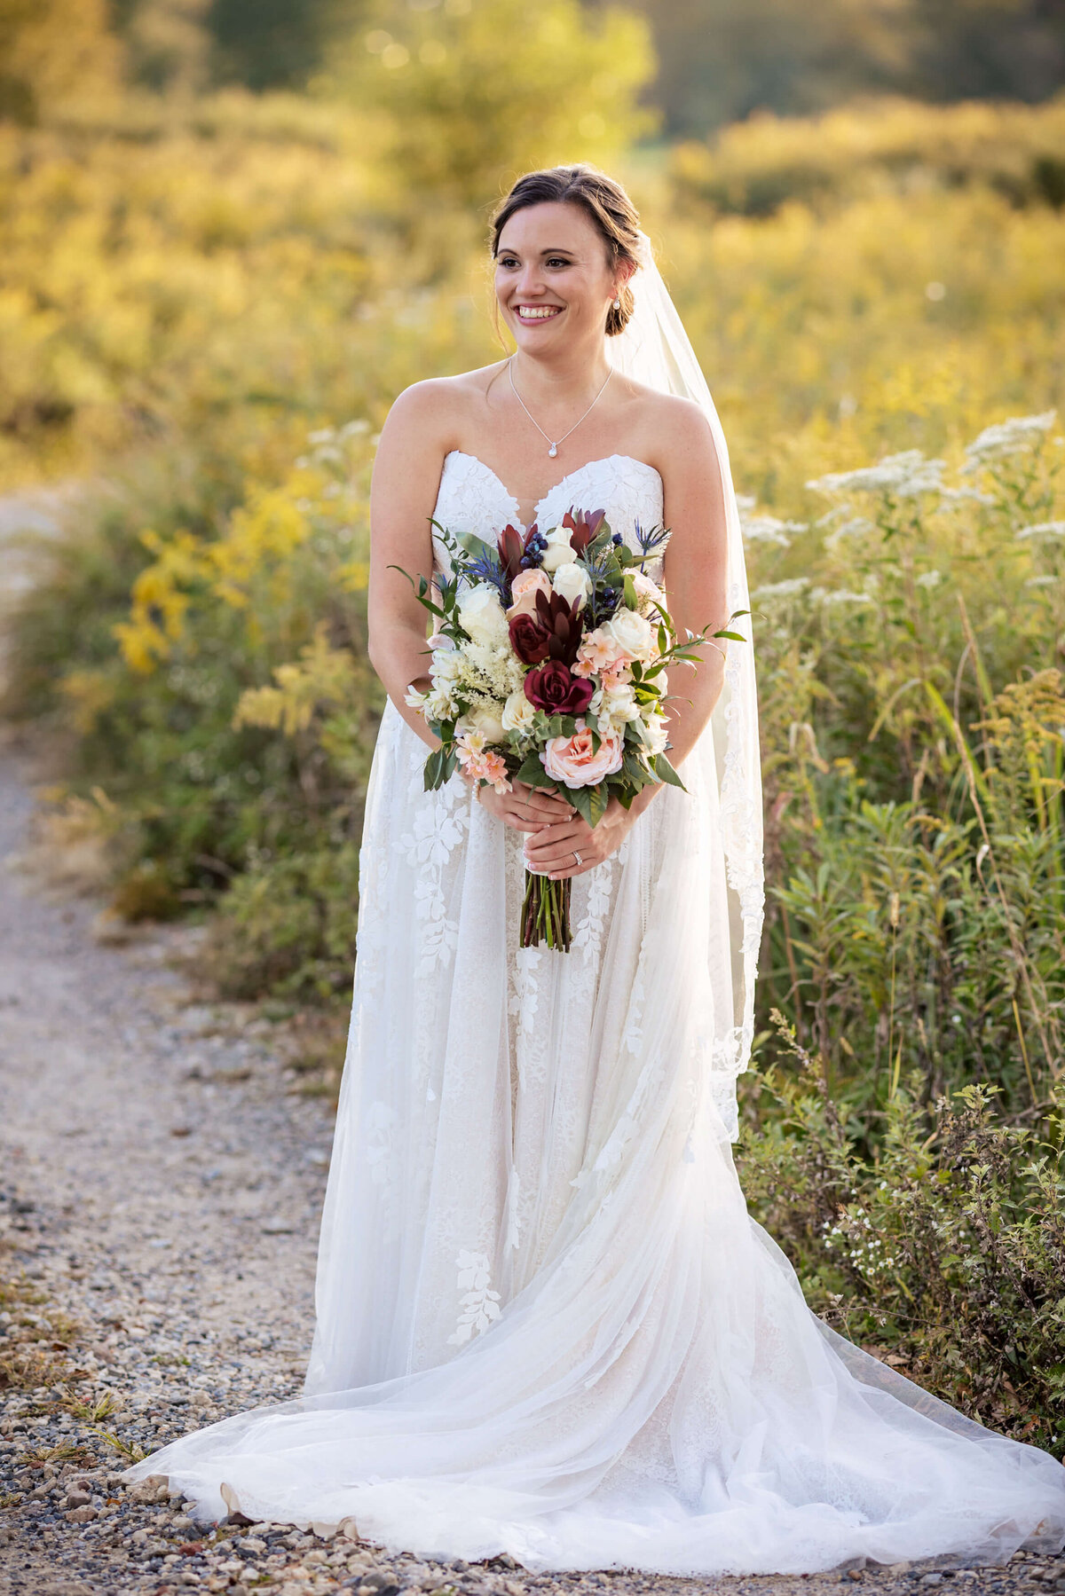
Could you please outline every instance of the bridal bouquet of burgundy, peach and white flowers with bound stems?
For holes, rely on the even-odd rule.
[[[452,575],[433,587],[418,576],[417,597],[436,618],[433,685],[406,694],[441,739],[425,761],[426,792],[457,768],[500,793],[514,780],[565,787],[594,827],[612,796],[628,809],[648,784],[683,788],[666,757],[666,667],[698,664],[695,648],[709,637],[742,638],[704,629],[677,640],[666,595],[643,568],[667,528],[637,523],[635,554],[602,511],[572,508],[549,531],[505,527],[495,544],[433,525]],[[544,940],[568,951],[568,876],[525,871],[521,930],[522,946]]]

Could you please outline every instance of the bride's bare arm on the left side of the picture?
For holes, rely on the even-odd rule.
[[[430,517],[436,506],[447,453],[439,417],[445,381],[415,383],[399,394],[382,428],[370,482],[370,579],[367,594],[369,656],[390,699],[430,749],[441,739],[404,696],[410,683],[430,686],[426,611],[399,565],[433,578]]]

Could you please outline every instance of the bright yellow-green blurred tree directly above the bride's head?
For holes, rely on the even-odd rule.
[[[324,94],[378,110],[396,192],[484,204],[530,166],[610,161],[656,118],[647,22],[578,0],[372,0],[329,51]]]

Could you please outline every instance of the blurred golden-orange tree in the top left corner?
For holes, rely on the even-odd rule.
[[[0,0],[0,121],[32,124],[121,81],[107,0]]]

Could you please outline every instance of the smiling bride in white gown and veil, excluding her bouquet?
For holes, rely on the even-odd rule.
[[[813,1572],[1065,1545],[1065,1473],[843,1341],[731,1162],[762,924],[752,643],[674,667],[685,790],[497,793],[436,744],[422,610],[449,531],[604,509],[679,629],[746,610],[725,442],[626,193],[522,177],[493,230],[511,359],[399,396],[372,488],[388,689],[305,1393],[188,1435],[203,1519],[527,1569]],[[410,701],[409,701],[410,699]],[[525,867],[572,878],[568,953],[517,945]]]

